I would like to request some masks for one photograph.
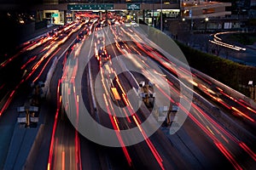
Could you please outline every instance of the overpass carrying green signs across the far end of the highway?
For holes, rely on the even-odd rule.
[[[125,14],[134,14],[137,19],[145,18],[147,22],[152,22],[160,14],[162,7],[163,14],[175,18],[179,14],[179,3],[58,3],[35,5],[33,9],[37,11],[36,20],[49,20],[50,23],[63,25],[74,19],[77,11],[122,11]],[[154,12],[153,12],[154,11]],[[154,17],[153,17],[154,15]],[[132,18],[132,16],[131,16]],[[137,20],[136,19],[136,20]],[[144,19],[143,19],[144,20]]]

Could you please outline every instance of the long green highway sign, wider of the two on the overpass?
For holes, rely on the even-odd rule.
[[[67,4],[69,10],[106,10],[113,9],[112,3],[98,3],[98,4]]]

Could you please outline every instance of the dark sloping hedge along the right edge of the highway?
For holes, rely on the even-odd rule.
[[[247,85],[250,80],[256,82],[256,67],[240,65],[229,59],[205,54],[179,42],[177,45],[183,51],[191,67],[249,96],[248,89],[241,88],[239,85]]]

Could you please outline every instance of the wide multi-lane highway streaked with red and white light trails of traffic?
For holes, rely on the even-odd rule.
[[[113,14],[24,42],[0,62],[3,169],[255,168],[256,104],[175,48]]]

